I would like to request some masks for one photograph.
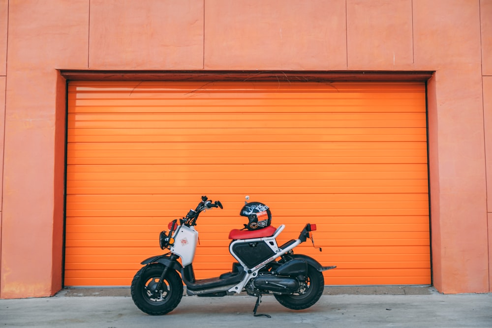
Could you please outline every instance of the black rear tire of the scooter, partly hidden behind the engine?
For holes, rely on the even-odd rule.
[[[325,288],[325,279],[323,273],[319,272],[312,266],[307,266],[306,290],[304,294],[285,294],[275,295],[277,301],[292,310],[304,310],[314,305],[323,294]]]

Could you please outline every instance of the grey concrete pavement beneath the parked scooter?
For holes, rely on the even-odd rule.
[[[442,295],[432,287],[326,287],[312,307],[294,311],[264,296],[185,296],[164,316],[141,312],[128,288],[65,289],[52,298],[0,299],[1,327],[492,327],[492,294]]]

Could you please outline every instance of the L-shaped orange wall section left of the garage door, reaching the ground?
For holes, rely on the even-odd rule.
[[[65,85],[56,68],[87,67],[85,9],[86,0],[8,1],[1,298],[62,288]]]

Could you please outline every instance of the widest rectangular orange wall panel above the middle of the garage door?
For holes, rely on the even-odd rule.
[[[206,0],[203,68],[347,69],[345,2]]]

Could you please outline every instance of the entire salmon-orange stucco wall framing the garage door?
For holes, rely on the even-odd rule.
[[[0,298],[61,288],[58,69],[435,71],[434,285],[491,292],[491,22],[489,0],[0,0]]]

